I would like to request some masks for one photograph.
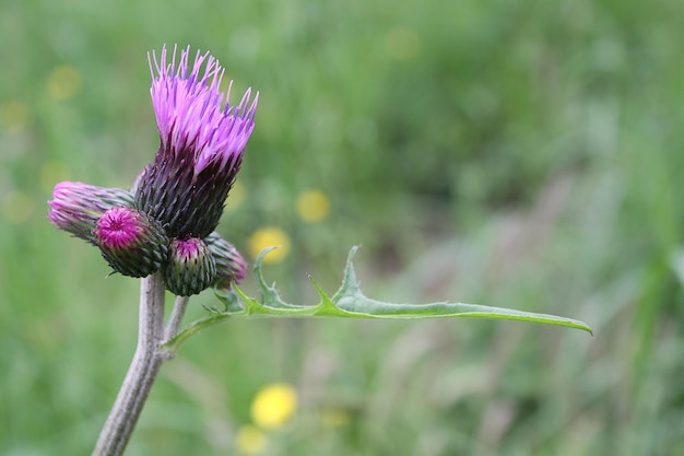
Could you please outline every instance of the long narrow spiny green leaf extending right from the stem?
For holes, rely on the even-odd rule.
[[[309,276],[309,280],[320,295],[316,305],[295,305],[285,302],[275,285],[268,285],[261,272],[263,257],[274,247],[266,248],[255,261],[255,278],[261,300],[249,297],[237,285],[225,293],[216,291],[216,297],[224,304],[223,309],[209,309],[210,314],[180,331],[164,348],[175,351],[191,335],[208,326],[227,318],[268,316],[268,317],[345,317],[345,318],[490,318],[540,323],[545,325],[565,326],[581,329],[591,334],[591,328],[579,320],[555,315],[536,314],[503,307],[490,307],[477,304],[438,302],[428,304],[396,304],[367,297],[358,285],[352,260],[358,247],[352,247],[342,285],[332,296],[328,294]]]

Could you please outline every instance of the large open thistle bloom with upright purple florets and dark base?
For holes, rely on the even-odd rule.
[[[139,209],[158,220],[170,237],[207,237],[219,224],[224,201],[243,161],[255,122],[259,94],[247,90],[231,106],[231,85],[220,90],[224,69],[199,51],[189,68],[190,48],[166,47],[149,56],[152,104],[161,143],[135,190]],[[202,70],[203,67],[203,70]],[[225,97],[225,104],[224,104]]]

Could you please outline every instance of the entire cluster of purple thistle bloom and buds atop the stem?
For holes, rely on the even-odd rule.
[[[48,218],[59,230],[97,246],[115,271],[157,270],[169,291],[188,296],[245,277],[237,249],[212,233],[255,128],[259,94],[229,104],[224,69],[209,52],[177,49],[148,55],[160,149],[130,191],[60,183]],[[190,65],[191,63],[191,65]],[[203,241],[204,239],[204,241]]]

